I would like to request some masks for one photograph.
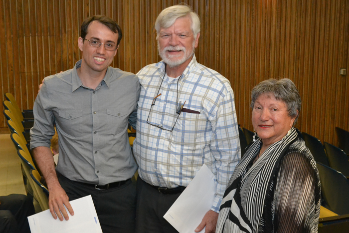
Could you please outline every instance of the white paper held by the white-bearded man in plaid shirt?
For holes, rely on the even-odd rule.
[[[194,233],[212,207],[216,193],[214,175],[203,165],[164,218],[179,233]],[[204,232],[203,229],[201,232]]]

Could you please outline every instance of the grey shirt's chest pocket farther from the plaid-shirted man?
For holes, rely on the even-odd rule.
[[[81,124],[83,124],[82,110],[59,110],[59,123],[61,129],[68,131],[69,135],[80,137],[83,133]]]

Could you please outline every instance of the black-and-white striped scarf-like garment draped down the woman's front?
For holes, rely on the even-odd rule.
[[[309,149],[298,139],[294,128],[288,136],[270,145],[261,157],[253,164],[259,153],[262,142],[258,139],[246,151],[236,166],[223,196],[220,207],[217,233],[256,233],[261,222],[267,191],[271,186],[278,164],[290,150],[306,155],[314,170],[316,163]],[[246,171],[246,168],[251,166]],[[318,179],[320,187],[320,179]],[[240,195],[238,195],[240,194]],[[320,201],[316,209],[320,211]],[[318,218],[319,213],[314,216]],[[314,221],[317,220],[314,218]],[[317,230],[317,229],[316,229]]]

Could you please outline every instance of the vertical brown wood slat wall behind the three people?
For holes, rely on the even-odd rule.
[[[349,62],[349,0],[0,0],[1,101],[11,92],[32,108],[42,78],[81,58],[77,38],[90,15],[123,29],[112,66],[136,73],[159,61],[156,17],[179,2],[199,14],[197,60],[230,80],[242,127],[253,130],[252,87],[288,77],[303,101],[297,128],[335,145],[335,127],[349,130],[349,81],[339,75]]]

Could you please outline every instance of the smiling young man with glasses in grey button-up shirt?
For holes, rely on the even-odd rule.
[[[137,165],[127,126],[137,109],[140,84],[136,75],[109,67],[121,37],[119,25],[109,17],[85,19],[78,39],[82,59],[73,69],[44,79],[30,130],[53,218],[68,220],[64,206],[74,214],[68,201],[92,195],[104,233],[132,233],[135,226],[136,189],[130,178]],[[50,151],[54,125],[56,169]]]

